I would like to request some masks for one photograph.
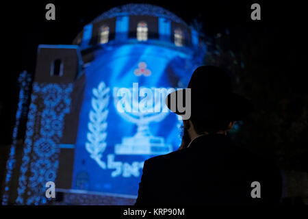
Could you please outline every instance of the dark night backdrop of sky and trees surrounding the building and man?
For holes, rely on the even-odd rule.
[[[55,21],[45,19],[47,3],[55,4]],[[17,77],[23,70],[34,73],[38,44],[71,44],[84,25],[126,3],[159,5],[189,24],[202,23],[198,28],[209,47],[205,63],[227,68],[235,91],[251,99],[256,108],[238,133],[233,133],[235,141],[274,159],[283,170],[308,171],[307,13],[303,1],[203,0],[1,3],[5,12],[1,18],[1,172],[12,142]],[[251,20],[252,3],[261,5],[261,21]]]

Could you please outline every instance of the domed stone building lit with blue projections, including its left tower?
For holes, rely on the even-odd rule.
[[[5,192],[3,203],[48,203],[53,200],[45,196],[49,181],[66,203],[79,204],[78,194],[109,197],[95,204],[134,200],[144,160],[175,151],[181,143],[181,120],[163,112],[164,98],[187,86],[205,53],[195,29],[147,4],[101,14],[72,45],[40,45],[17,194]],[[140,112],[143,88],[159,91],[146,107],[160,110]],[[129,96],[125,104],[119,95],[123,89]],[[10,168],[6,191],[12,190]]]

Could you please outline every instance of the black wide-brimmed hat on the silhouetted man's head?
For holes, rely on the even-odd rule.
[[[200,66],[194,70],[188,88],[191,92],[191,118],[206,120],[241,120],[253,110],[253,105],[243,96],[232,92],[231,78],[216,66]],[[187,89],[183,89],[187,92]],[[173,93],[173,94],[172,94]],[[166,105],[178,115],[183,112],[171,107],[176,104],[179,90],[168,94]],[[189,101],[183,94],[183,105]]]

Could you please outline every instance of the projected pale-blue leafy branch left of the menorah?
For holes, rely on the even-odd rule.
[[[101,157],[107,146],[105,140],[107,137],[107,106],[109,104],[110,88],[101,81],[97,88],[92,90],[93,97],[91,100],[92,110],[90,111],[88,123],[88,133],[86,142],[86,150],[90,153],[90,157],[94,159],[101,168],[105,169],[105,162],[101,161]]]

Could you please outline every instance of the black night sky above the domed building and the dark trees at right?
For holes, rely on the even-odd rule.
[[[293,3],[294,1],[292,1]],[[303,1],[298,1],[302,3]],[[54,3],[56,20],[45,19],[45,5]],[[38,44],[71,44],[82,27],[90,23],[103,12],[126,3],[151,3],[162,6],[184,21],[194,19],[203,22],[207,36],[230,30],[233,36],[238,33],[251,32],[256,40],[260,29],[268,31],[266,37],[273,42],[272,65],[288,66],[283,62],[285,55],[292,56],[291,62],[303,60],[305,42],[305,11],[300,3],[271,4],[263,1],[11,1],[1,3],[1,11],[7,12],[2,18],[1,41],[5,62],[2,62],[0,92],[0,144],[10,144],[14,126],[18,86],[16,79],[23,70],[34,73]],[[261,5],[261,21],[251,21],[251,4]],[[240,30],[240,31],[239,31]],[[239,32],[237,32],[239,31]],[[241,37],[239,35],[239,37]],[[260,37],[264,37],[264,34]],[[290,51],[290,49],[292,51]],[[292,52],[292,53],[291,53]],[[295,52],[295,54],[294,54]],[[262,55],[262,54],[260,54]],[[290,59],[289,59],[290,60]],[[290,62],[290,61],[289,61]],[[296,65],[296,64],[295,64]],[[291,67],[290,67],[291,68]],[[294,69],[292,72],[279,72],[281,75],[292,75],[290,86],[304,90],[306,83],[302,78],[307,70]],[[292,67],[293,68],[293,67]],[[278,74],[277,74],[278,75]]]

